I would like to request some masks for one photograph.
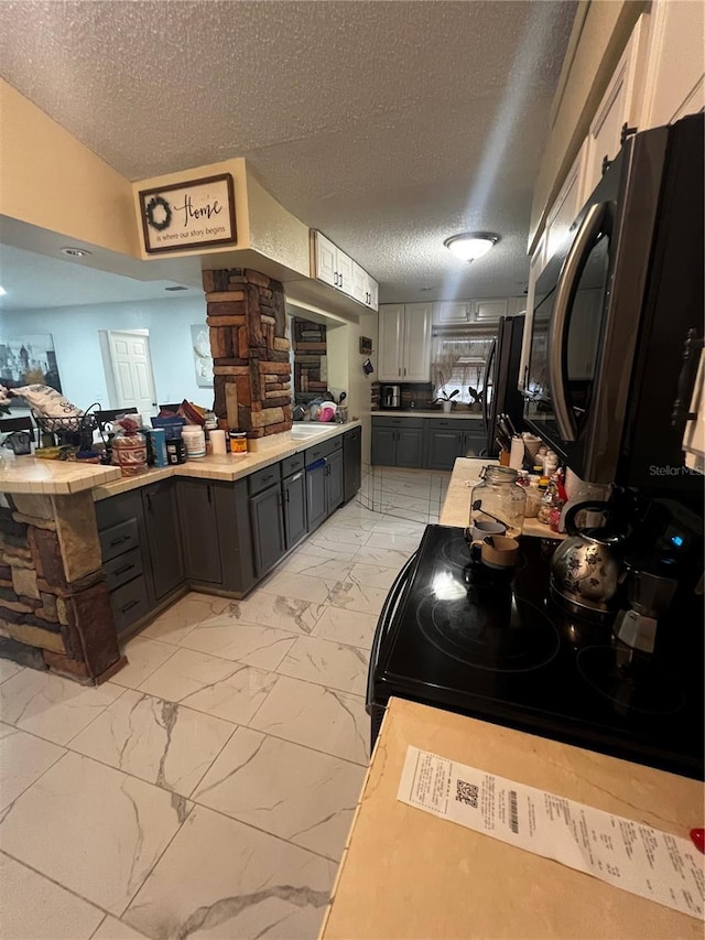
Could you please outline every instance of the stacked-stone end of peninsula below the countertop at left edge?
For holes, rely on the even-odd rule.
[[[0,494],[0,657],[87,684],[124,665],[89,490]]]

